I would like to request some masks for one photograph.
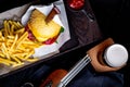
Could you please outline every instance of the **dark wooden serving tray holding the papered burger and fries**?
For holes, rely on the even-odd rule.
[[[23,5],[25,3],[30,2],[31,0],[24,0],[24,1],[23,0],[12,0],[12,2],[13,1],[14,2],[17,1],[20,4],[17,3],[15,5],[10,5],[10,9],[18,7],[18,5]],[[22,3],[20,1],[22,1]],[[38,2],[38,4],[39,3],[40,4],[49,4],[49,3],[51,3],[55,0],[51,0],[51,1],[48,0],[44,3],[43,3],[43,1],[47,1],[47,0],[42,0],[41,2]],[[26,69],[39,65],[41,63],[48,63],[52,66],[55,65],[55,63],[56,63],[56,65],[58,66],[61,64],[66,63],[67,61],[76,62],[80,58],[78,58],[78,57],[77,58],[69,58],[69,57],[74,55],[75,51],[78,51],[80,54],[86,53],[86,51],[89,48],[91,48],[92,44],[103,39],[102,34],[101,34],[100,28],[99,28],[99,25],[96,23],[96,18],[93,22],[89,22],[88,17],[81,11],[74,12],[66,5],[66,0],[64,0],[64,3],[65,3],[68,24],[69,24],[69,28],[70,28],[72,39],[69,41],[67,41],[60,49],[60,53],[54,54],[54,55],[52,55],[48,59],[37,61],[32,64],[26,65],[22,69],[17,69],[16,71],[12,71],[10,73],[3,74],[3,75],[0,76],[0,78],[12,75],[12,74],[15,74],[15,73],[18,73],[18,72],[22,72]],[[84,10],[87,12],[90,12],[94,16],[89,1],[86,0],[86,3],[87,4],[86,4]],[[8,9],[5,9],[5,10],[8,10]],[[2,12],[3,9],[1,9],[0,11]],[[79,50],[82,50],[82,51],[79,51]],[[63,61],[64,61],[64,63],[63,63]],[[69,63],[69,64],[73,64],[73,62]],[[69,64],[68,64],[68,66],[69,66]]]

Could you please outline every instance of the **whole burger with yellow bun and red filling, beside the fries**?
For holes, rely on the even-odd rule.
[[[30,40],[51,45],[56,41],[64,28],[53,20],[47,23],[46,17],[47,16],[42,12],[35,9],[25,28],[28,32],[28,38]]]

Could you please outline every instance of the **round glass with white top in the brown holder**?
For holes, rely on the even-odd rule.
[[[128,51],[120,44],[114,44],[107,47],[103,54],[104,62],[112,67],[126,65],[128,61]]]

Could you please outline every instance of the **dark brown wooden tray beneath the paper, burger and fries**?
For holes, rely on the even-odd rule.
[[[22,0],[18,0],[18,3],[20,1]],[[26,0],[24,1],[25,2],[22,1],[20,5],[28,2]],[[2,75],[0,76],[0,79],[4,78],[5,80],[11,75],[15,75],[24,71],[26,72],[30,69],[38,69],[42,64],[48,64],[55,69],[63,67],[69,70],[79,59],[81,59],[86,54],[88,49],[90,49],[91,47],[100,42],[102,39],[104,39],[100,30],[99,24],[96,22],[96,17],[94,16],[94,13],[89,3],[89,0],[86,0],[84,11],[91,13],[94,16],[95,20],[93,22],[90,22],[81,11],[72,11],[66,4],[66,0],[64,0],[64,3],[69,23],[72,39],[68,42],[66,42],[63,46],[63,48],[61,48],[62,51],[58,54],[50,57],[49,59],[43,59],[25,67]],[[11,5],[10,8],[13,7]],[[3,9],[0,11],[3,11]]]

